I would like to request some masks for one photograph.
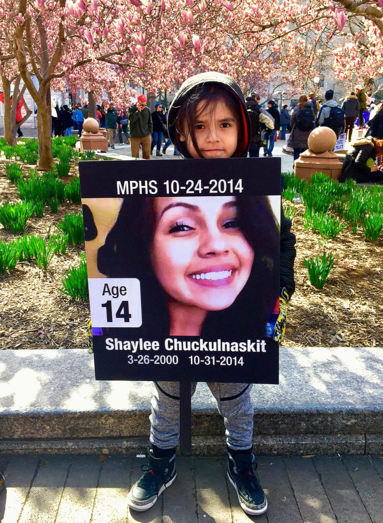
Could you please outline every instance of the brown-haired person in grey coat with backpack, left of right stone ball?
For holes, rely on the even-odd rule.
[[[306,95],[301,95],[290,119],[291,133],[288,146],[294,150],[294,161],[308,148],[309,134],[315,129],[315,110]]]

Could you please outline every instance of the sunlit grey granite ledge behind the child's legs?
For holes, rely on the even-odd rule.
[[[280,351],[280,384],[255,385],[254,446],[264,454],[383,452],[381,348]],[[0,451],[143,452],[150,382],[94,380],[86,349],[0,353]],[[193,451],[223,453],[223,419],[205,384],[193,397]]]

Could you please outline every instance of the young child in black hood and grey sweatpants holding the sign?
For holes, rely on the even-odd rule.
[[[185,81],[168,114],[169,138],[185,158],[246,156],[251,129],[245,98],[233,78],[221,73],[202,73]],[[294,292],[295,236],[291,222],[281,211],[281,313],[275,338],[281,343],[287,301]],[[192,383],[192,393],[195,391]],[[267,510],[267,499],[255,474],[252,453],[254,407],[251,384],[207,383],[224,418],[228,451],[228,479],[240,506],[250,515]],[[151,401],[150,444],[144,475],[129,492],[134,510],[147,510],[176,479],[176,447],[179,438],[179,384],[156,382]]]

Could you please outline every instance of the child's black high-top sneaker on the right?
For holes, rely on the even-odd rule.
[[[267,499],[255,475],[256,469],[254,454],[237,454],[233,458],[228,453],[227,477],[236,490],[239,505],[251,515],[263,514],[267,510]]]

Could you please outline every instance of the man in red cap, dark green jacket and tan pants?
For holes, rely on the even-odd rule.
[[[150,160],[153,122],[151,120],[150,109],[146,107],[145,95],[137,96],[137,102],[129,107],[128,119],[132,157],[139,158],[139,146],[141,144],[144,160]]]

